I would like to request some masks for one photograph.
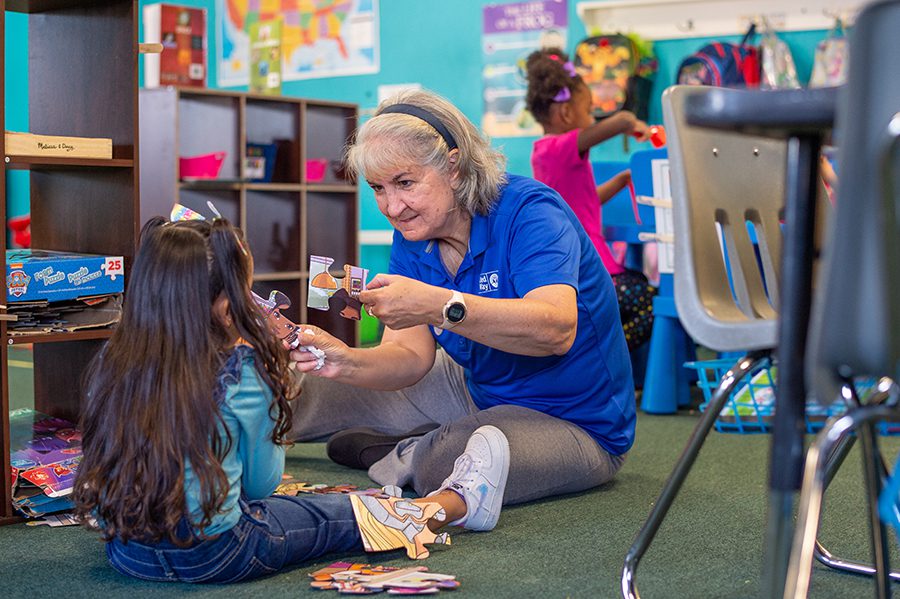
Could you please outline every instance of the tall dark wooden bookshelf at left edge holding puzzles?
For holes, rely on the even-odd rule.
[[[8,156],[2,139],[0,203],[6,171],[29,171],[32,247],[125,258],[126,277],[140,226],[138,196],[137,2],[18,0],[6,11],[28,15],[28,122],[44,135],[112,139],[112,159]],[[4,39],[4,44],[6,40]],[[6,73],[0,65],[0,117]],[[6,228],[0,241],[8,247]],[[9,347],[32,343],[35,409],[77,421],[80,379],[110,329],[10,336],[0,321],[0,523],[15,521],[10,502]]]

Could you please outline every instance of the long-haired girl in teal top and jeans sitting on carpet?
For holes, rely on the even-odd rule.
[[[430,529],[465,516],[448,489],[469,484],[458,476],[427,500],[272,495],[298,391],[252,299],[252,272],[224,219],[156,218],[141,233],[122,321],[85,379],[74,492],[112,566],[147,580],[236,582],[326,552],[389,548],[379,534],[404,537],[393,546],[413,557],[448,542]],[[478,442],[467,463],[508,466],[508,449],[486,458]]]

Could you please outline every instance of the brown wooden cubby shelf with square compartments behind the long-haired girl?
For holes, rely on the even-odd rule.
[[[168,215],[177,201],[210,216],[207,201],[239,224],[255,262],[254,290],[292,302],[288,318],[318,325],[351,345],[356,321],[307,310],[309,255],[358,264],[358,190],[337,165],[356,128],[357,106],[304,98],[167,87],[140,91],[141,218]],[[251,181],[247,143],[276,145],[270,181]],[[179,179],[179,156],[225,152],[215,179]],[[325,159],[310,180],[307,160]]]

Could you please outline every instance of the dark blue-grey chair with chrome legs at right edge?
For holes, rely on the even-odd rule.
[[[812,557],[856,573],[875,574],[876,595],[890,595],[887,534],[877,499],[887,468],[874,424],[900,419],[896,384],[882,379],[867,404],[853,378],[900,380],[900,0],[876,2],[859,15],[850,37],[850,70],[837,113],[840,183],[837,215],[826,244],[810,340],[810,387],[823,403],[848,395],[852,407],[830,422],[807,455],[784,597],[805,597]],[[874,567],[831,563],[815,540],[822,493],[834,462],[858,429],[868,496]],[[823,559],[825,557],[825,559]]]

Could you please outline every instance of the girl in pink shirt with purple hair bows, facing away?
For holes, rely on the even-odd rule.
[[[603,238],[600,210],[628,185],[631,173],[623,171],[597,185],[589,154],[592,147],[617,135],[646,141],[649,127],[625,110],[595,122],[591,91],[559,48],[531,53],[527,71],[525,102],[544,128],[544,137],[534,142],[531,155],[534,178],[559,192],[594,242],[615,283],[628,349],[635,349],[650,338],[656,288],[643,273],[616,262]]]

